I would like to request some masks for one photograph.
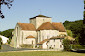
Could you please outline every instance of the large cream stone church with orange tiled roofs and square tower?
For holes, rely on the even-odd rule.
[[[30,23],[17,23],[11,45],[21,48],[21,45],[32,45],[33,48],[63,50],[63,39],[67,36],[64,25],[52,22],[52,18],[37,15],[29,19]]]

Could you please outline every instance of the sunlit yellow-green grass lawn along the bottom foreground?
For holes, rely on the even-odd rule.
[[[24,51],[24,52],[1,52],[0,56],[85,56],[85,53],[62,52],[62,51]]]

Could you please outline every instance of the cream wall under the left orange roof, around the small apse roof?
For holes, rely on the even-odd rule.
[[[26,39],[26,37],[28,36],[33,36],[35,38],[29,38],[29,39]],[[32,41],[36,44],[36,37],[37,37],[37,33],[36,31],[25,31],[25,30],[22,30],[22,44],[31,44]]]

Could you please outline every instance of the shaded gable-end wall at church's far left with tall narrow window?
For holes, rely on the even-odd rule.
[[[13,37],[11,41],[11,45],[15,48],[18,48],[20,45],[20,37],[21,37],[21,28],[18,24],[16,24],[15,29],[13,31]]]

